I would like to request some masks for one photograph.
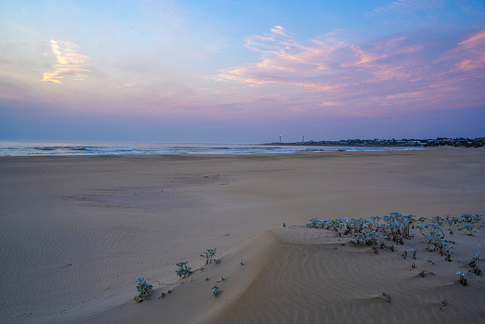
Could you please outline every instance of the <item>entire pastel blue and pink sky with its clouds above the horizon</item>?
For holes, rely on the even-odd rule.
[[[485,136],[485,0],[0,0],[0,140]]]

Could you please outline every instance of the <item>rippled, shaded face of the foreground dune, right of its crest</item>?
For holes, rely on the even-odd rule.
[[[271,266],[213,317],[216,323],[472,323],[485,319],[483,279],[472,275],[468,286],[454,284],[456,271],[469,269],[464,265],[483,234],[471,239],[460,235],[453,251],[459,256],[448,262],[437,252],[424,251],[425,244],[417,240],[396,246],[394,252],[379,249],[374,254],[372,248],[354,247],[348,238],[328,230],[291,227],[274,233],[278,253]],[[475,249],[467,244],[471,241]],[[420,249],[417,268],[411,268],[411,257],[400,256],[412,246]],[[422,278],[421,270],[430,273]],[[446,307],[441,303],[445,299]]]

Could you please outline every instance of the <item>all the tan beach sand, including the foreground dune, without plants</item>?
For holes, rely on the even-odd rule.
[[[421,253],[419,232],[375,254],[304,225],[484,214],[484,156],[447,147],[0,157],[0,322],[483,323],[482,277],[454,283],[477,244],[485,250],[483,232],[457,231],[448,262]],[[413,246],[417,269],[400,256]],[[199,255],[215,247],[222,261],[205,266]],[[195,271],[179,279],[182,260]],[[138,277],[155,287],[147,302],[132,299]]]

